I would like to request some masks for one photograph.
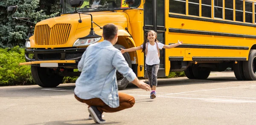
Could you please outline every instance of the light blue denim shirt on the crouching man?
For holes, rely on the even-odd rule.
[[[119,107],[116,69],[130,82],[136,78],[121,51],[111,42],[91,44],[78,64],[81,75],[76,80],[76,96],[84,100],[100,98],[111,108]]]

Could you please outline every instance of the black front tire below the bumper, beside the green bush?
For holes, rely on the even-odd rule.
[[[63,76],[56,74],[53,69],[31,66],[32,77],[41,87],[56,87],[63,81]]]

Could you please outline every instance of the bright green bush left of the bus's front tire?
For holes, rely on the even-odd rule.
[[[25,62],[23,48],[0,48],[0,86],[35,84],[30,66],[19,66],[20,62]]]

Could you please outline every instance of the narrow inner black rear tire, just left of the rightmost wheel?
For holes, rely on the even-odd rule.
[[[237,80],[246,80],[246,78],[244,77],[243,61],[237,61],[237,64],[233,64],[233,70]]]

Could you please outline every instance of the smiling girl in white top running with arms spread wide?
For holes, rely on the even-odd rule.
[[[146,38],[147,37],[147,38]],[[177,47],[178,45],[182,44],[183,42],[177,42],[176,44],[171,44],[171,45],[165,45],[160,43],[157,40],[157,33],[155,31],[148,31],[145,34],[146,39],[144,39],[144,42],[141,46],[138,47],[132,47],[129,49],[122,49],[121,52],[132,52],[136,50],[141,50],[142,52],[145,53],[146,55],[146,72],[148,75],[148,83],[151,87],[151,93],[150,93],[150,98],[154,99],[157,94],[156,94],[156,89],[157,89],[157,72],[159,69],[159,63],[160,63],[160,51],[159,49],[165,48],[165,49],[170,49],[173,47]]]

